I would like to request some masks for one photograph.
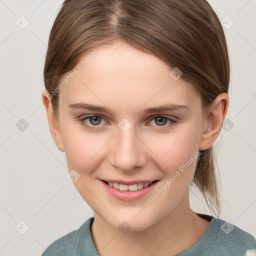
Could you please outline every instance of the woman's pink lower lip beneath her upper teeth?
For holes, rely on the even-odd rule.
[[[155,181],[154,183],[147,187],[138,189],[136,191],[122,191],[112,186],[109,186],[101,179],[99,179],[99,181],[102,183],[106,191],[115,198],[120,199],[122,201],[135,201],[149,193],[155,187],[159,180]]]

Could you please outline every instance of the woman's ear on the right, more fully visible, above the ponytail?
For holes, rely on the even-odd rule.
[[[199,150],[208,149],[217,139],[228,109],[229,99],[226,93],[216,96],[204,116],[204,125]]]

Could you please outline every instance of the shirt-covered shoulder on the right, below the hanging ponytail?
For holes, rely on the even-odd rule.
[[[256,240],[250,233],[219,218],[213,218],[213,221],[216,230],[214,244],[219,252],[227,253],[226,255],[254,255]]]

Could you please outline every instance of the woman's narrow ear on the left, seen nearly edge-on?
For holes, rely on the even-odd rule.
[[[49,94],[49,92],[46,89],[42,91],[42,102],[46,109],[51,136],[52,136],[56,146],[58,147],[58,149],[60,151],[64,152],[64,146],[62,143],[62,137],[61,137],[61,132],[60,132],[60,128],[59,128],[59,123],[58,123],[57,117],[52,109],[52,105],[51,105],[51,101],[50,101],[51,97],[52,96]]]

